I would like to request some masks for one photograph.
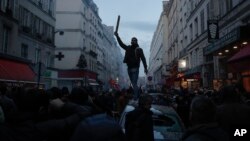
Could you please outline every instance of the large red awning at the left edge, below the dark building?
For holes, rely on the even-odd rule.
[[[0,79],[34,81],[35,73],[28,64],[0,59]]]

